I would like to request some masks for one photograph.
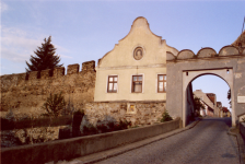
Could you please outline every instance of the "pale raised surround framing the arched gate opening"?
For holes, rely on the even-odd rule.
[[[185,127],[189,121],[190,115],[190,106],[188,104],[188,98],[192,96],[190,94],[191,82],[199,77],[202,75],[215,75],[221,78],[229,87],[231,89],[231,102],[232,102],[232,126],[235,126],[235,104],[234,104],[234,90],[233,90],[233,69],[225,68],[225,69],[214,69],[214,70],[187,70],[183,71],[183,126]],[[192,87],[191,87],[192,89]]]

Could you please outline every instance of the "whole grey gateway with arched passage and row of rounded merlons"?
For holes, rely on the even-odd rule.
[[[225,46],[219,54],[212,48],[202,48],[195,55],[191,50],[182,50],[177,56],[166,55],[167,97],[166,108],[173,116],[188,124],[192,106],[191,81],[203,74],[214,74],[223,79],[231,89],[232,126],[237,116],[245,112],[245,48]]]

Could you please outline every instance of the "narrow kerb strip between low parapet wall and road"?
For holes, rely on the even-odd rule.
[[[115,149],[110,149],[107,151],[103,151],[103,152],[98,152],[98,153],[94,153],[91,155],[86,155],[86,156],[82,156],[82,157],[78,157],[78,159],[73,159],[72,161],[69,161],[70,164],[91,164],[91,163],[95,163],[95,162],[100,162],[113,156],[117,156],[119,154],[122,154],[125,152],[148,145],[150,143],[163,140],[165,138],[172,137],[174,134],[180,133],[183,131],[189,130],[191,128],[194,128],[199,121],[201,120],[201,118],[199,118],[198,120],[191,122],[190,125],[188,125],[185,128],[180,128],[180,129],[176,129],[163,134],[159,134],[156,137],[152,137],[149,139],[144,139],[138,142],[133,142],[133,143],[129,143],[119,148],[115,148]]]

